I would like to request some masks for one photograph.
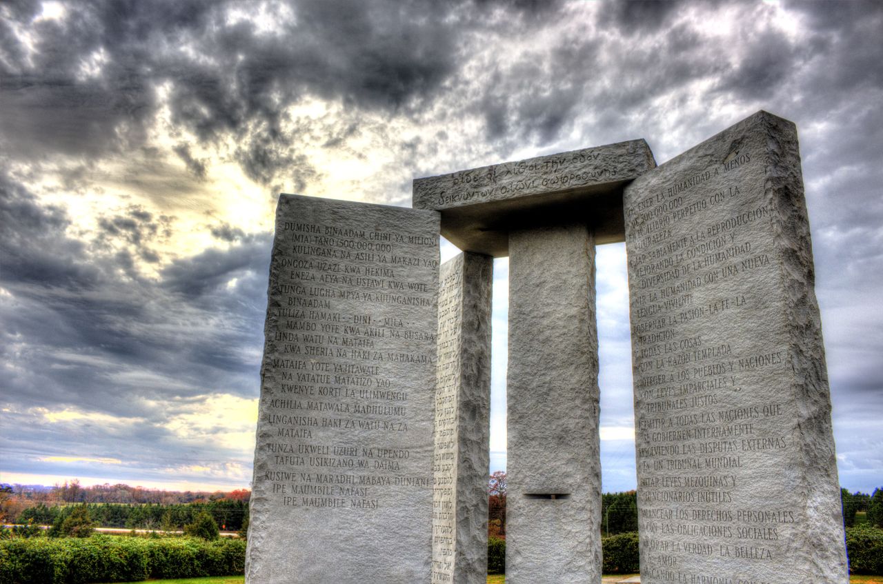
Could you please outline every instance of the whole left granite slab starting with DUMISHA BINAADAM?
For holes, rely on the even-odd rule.
[[[428,583],[438,213],[282,195],[250,584]]]

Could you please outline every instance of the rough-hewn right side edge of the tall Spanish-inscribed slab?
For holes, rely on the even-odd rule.
[[[803,462],[800,496],[804,498],[804,544],[796,546],[811,566],[807,578],[840,570],[849,582],[840,482],[834,453],[831,394],[822,341],[819,303],[809,217],[796,125],[760,111],[758,124],[766,135],[764,196],[774,206],[774,244],[779,252],[782,318],[789,335],[791,391],[796,411],[798,447]],[[832,516],[832,513],[834,516]],[[826,528],[824,527],[826,526]]]

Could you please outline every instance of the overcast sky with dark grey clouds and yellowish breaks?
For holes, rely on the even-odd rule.
[[[0,481],[248,485],[279,192],[409,206],[766,109],[800,133],[841,484],[883,486],[881,31],[879,2],[3,2]],[[622,245],[598,281],[603,486],[633,489]]]

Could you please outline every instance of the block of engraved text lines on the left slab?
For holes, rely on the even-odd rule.
[[[406,237],[283,223],[278,239],[290,251],[278,262],[267,363],[278,389],[261,408],[275,435],[259,445],[271,454],[263,479],[283,505],[379,509],[395,503],[385,487],[429,485],[409,472],[410,449],[389,447],[388,438],[407,434],[410,407],[409,387],[390,365],[434,366],[435,333],[389,310],[434,305],[426,281],[409,275],[431,273],[437,260],[403,251],[414,246]],[[429,237],[417,244],[436,247]],[[373,439],[353,443],[347,437],[357,429]]]

